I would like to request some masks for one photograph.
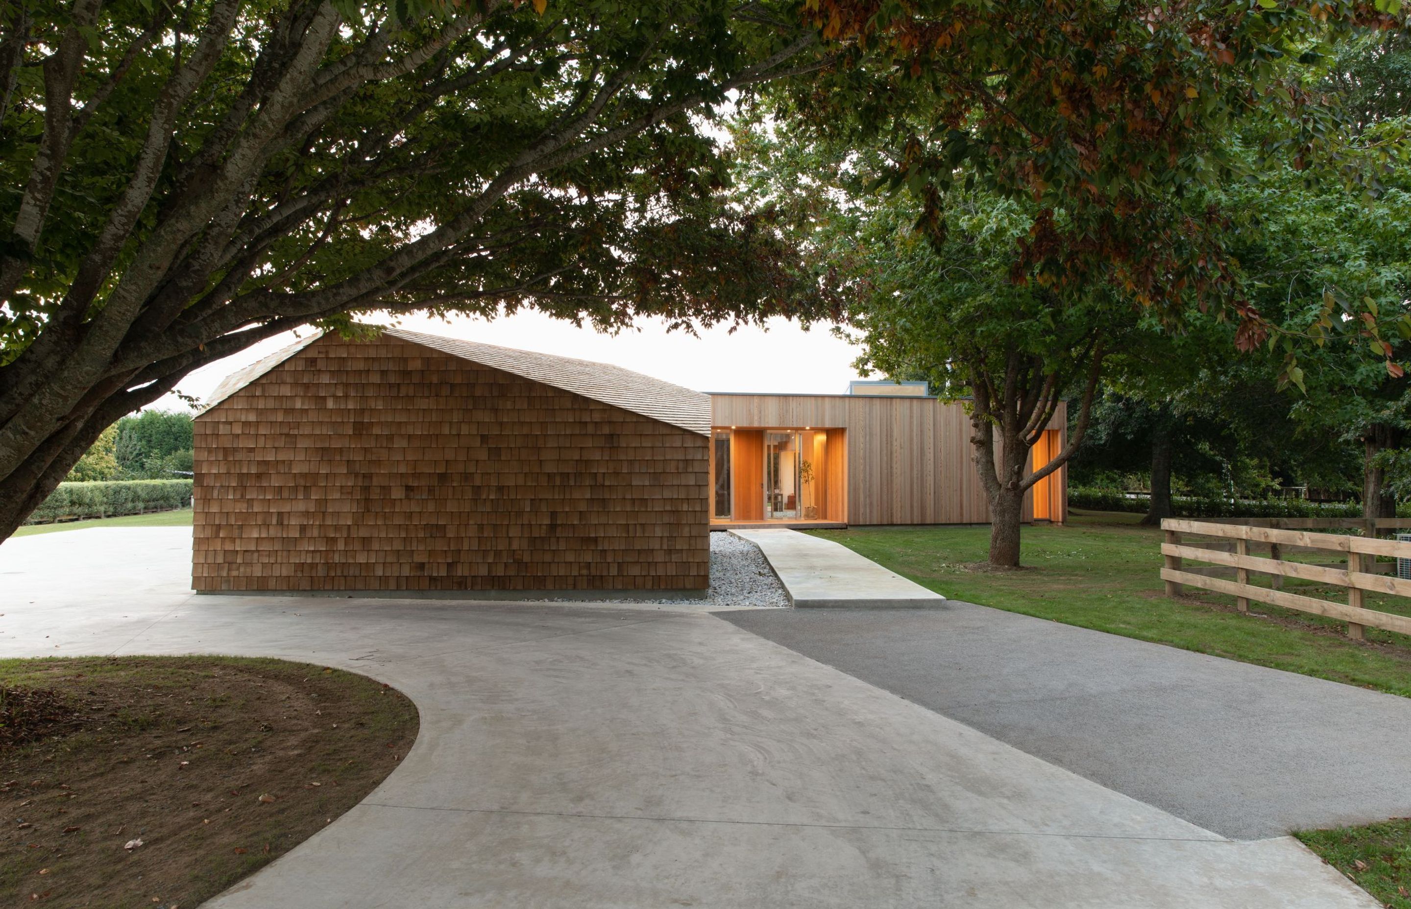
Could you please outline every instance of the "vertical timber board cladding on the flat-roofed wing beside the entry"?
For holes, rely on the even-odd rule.
[[[1067,440],[1067,407],[1048,428]],[[842,429],[847,438],[847,515],[852,525],[986,524],[989,501],[975,469],[974,429],[965,408],[935,398],[871,395],[711,395],[711,423],[755,428]],[[830,450],[832,433],[828,436]],[[737,467],[738,470],[738,467]],[[1067,467],[1058,483],[1067,517]],[[1024,521],[1033,519],[1033,494]]]

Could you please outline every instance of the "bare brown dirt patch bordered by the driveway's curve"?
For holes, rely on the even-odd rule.
[[[193,909],[357,805],[411,700],[277,659],[0,662],[0,906]]]

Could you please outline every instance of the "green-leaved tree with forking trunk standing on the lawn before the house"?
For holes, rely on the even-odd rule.
[[[924,378],[964,402],[991,508],[989,560],[1017,566],[1024,497],[1081,445],[1103,364],[1133,343],[1140,308],[1105,284],[1031,272],[1022,250],[1029,200],[954,191],[933,217],[907,195],[865,191],[888,165],[876,148],[813,143],[749,119],[737,147],[739,191],[777,206],[777,222],[844,294],[862,346],[856,366]],[[1065,397],[1074,431],[1033,470],[1031,449]]]

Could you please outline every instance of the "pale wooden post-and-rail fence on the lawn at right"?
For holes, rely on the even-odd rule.
[[[1397,521],[1397,524],[1401,524]],[[1328,526],[1326,524],[1324,526]],[[1360,522],[1359,525],[1360,526]],[[1249,611],[1249,601],[1281,606],[1302,613],[1315,613],[1348,622],[1348,637],[1360,639],[1363,628],[1381,628],[1400,634],[1411,634],[1411,615],[1397,615],[1393,613],[1379,613],[1362,606],[1366,591],[1388,593],[1398,597],[1411,597],[1411,580],[1395,577],[1395,572],[1381,574],[1377,569],[1377,556],[1393,559],[1411,559],[1411,542],[1397,542],[1394,539],[1379,539],[1367,536],[1350,536],[1342,534],[1316,534],[1312,531],[1281,529],[1273,526],[1252,526],[1249,524],[1216,524],[1211,521],[1187,521],[1181,518],[1167,518],[1161,521],[1165,531],[1165,542],[1161,543],[1164,566],[1161,580],[1165,582],[1165,594],[1177,596],[1182,584],[1225,593],[1235,597],[1235,606],[1242,613]],[[1373,534],[1379,526],[1366,528]],[[1184,535],[1213,536],[1216,541],[1230,541],[1233,545],[1219,542],[1205,546],[1184,542]],[[1264,543],[1270,548],[1270,558],[1250,553],[1250,543]],[[1215,548],[1219,546],[1219,548]],[[1228,546],[1228,548],[1226,548]],[[1309,565],[1307,562],[1290,562],[1283,556],[1290,552],[1322,552],[1331,558],[1343,560],[1342,565]],[[1212,569],[1189,570],[1185,560],[1206,562],[1218,569],[1233,569],[1235,580],[1212,577]],[[1391,563],[1394,565],[1394,563]],[[1263,573],[1273,577],[1273,587],[1259,587],[1249,583],[1249,573]],[[1331,584],[1345,590],[1345,601],[1319,600],[1298,593],[1281,590],[1280,582],[1285,577],[1311,580],[1319,584]]]

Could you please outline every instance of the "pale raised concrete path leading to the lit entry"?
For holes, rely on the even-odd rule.
[[[732,532],[759,546],[799,608],[919,608],[945,601],[831,539],[785,528]]]

